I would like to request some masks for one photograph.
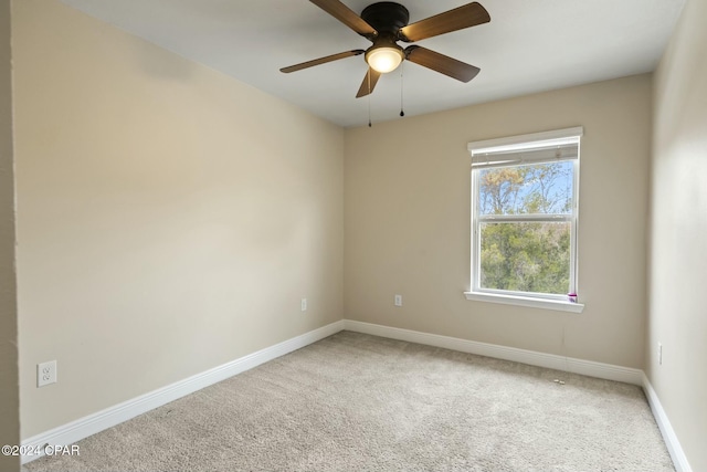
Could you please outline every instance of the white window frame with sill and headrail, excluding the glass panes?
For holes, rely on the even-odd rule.
[[[524,221],[568,221],[570,229],[570,293],[578,291],[578,224],[579,224],[579,154],[583,127],[578,126],[552,132],[510,136],[468,143],[472,155],[472,251],[469,291],[464,292],[467,300],[494,302],[509,305],[530,306],[564,312],[581,313],[582,303],[571,302],[566,294],[541,294],[494,289],[482,289],[481,284],[481,238],[479,225],[483,222],[524,222]],[[576,156],[562,154],[563,146],[577,145]],[[521,156],[519,151],[524,151]],[[573,154],[573,150],[572,150]],[[513,160],[504,156],[514,155]],[[572,211],[571,214],[519,214],[519,216],[479,216],[479,174],[483,168],[541,164],[548,161],[573,162]]]

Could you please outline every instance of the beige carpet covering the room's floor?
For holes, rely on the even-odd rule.
[[[350,332],[78,444],[25,469],[674,470],[636,386]]]

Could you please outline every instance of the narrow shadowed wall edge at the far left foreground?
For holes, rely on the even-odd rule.
[[[10,0],[0,0],[0,445],[20,443]],[[0,470],[20,470],[0,454]]]

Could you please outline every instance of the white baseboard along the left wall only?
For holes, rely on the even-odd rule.
[[[80,418],[67,424],[36,434],[22,441],[22,445],[30,445],[32,450],[43,451],[46,444],[68,445],[92,434],[112,428],[131,418],[150,411],[178,398],[184,397],[204,387],[225,380],[268,360],[297,350],[302,347],[324,339],[344,329],[344,322],[339,321],[318,329],[305,333],[292,339],[284,340],[265,349],[214,367],[196,376],[186,378],[167,387],[124,401],[103,411]],[[23,455],[22,463],[28,463],[41,455]]]

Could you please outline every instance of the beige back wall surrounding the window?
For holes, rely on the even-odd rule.
[[[345,316],[642,368],[651,86],[632,76],[347,130]],[[466,144],[579,125],[584,312],[467,301]]]

